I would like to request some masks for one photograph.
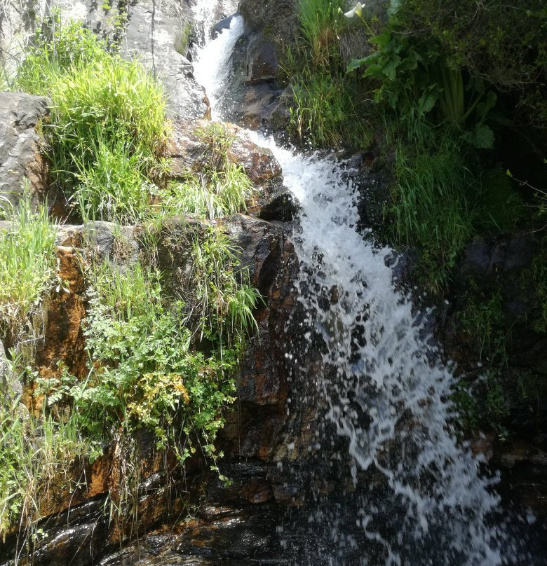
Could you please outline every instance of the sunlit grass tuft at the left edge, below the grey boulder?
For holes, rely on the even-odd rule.
[[[0,333],[16,345],[52,287],[56,231],[46,207],[32,212],[28,196],[11,219],[11,227],[0,232]]]

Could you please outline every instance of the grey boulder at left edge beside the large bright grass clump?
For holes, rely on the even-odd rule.
[[[36,124],[48,116],[48,106],[43,97],[0,92],[0,195],[12,204],[20,199],[25,183],[34,202],[45,196],[46,165]]]

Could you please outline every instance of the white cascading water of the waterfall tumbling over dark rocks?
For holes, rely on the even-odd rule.
[[[213,116],[242,33],[236,16],[197,54],[196,78]],[[450,427],[454,378],[420,322],[428,313],[417,312],[396,289],[388,265],[393,251],[356,231],[355,195],[342,166],[253,135],[274,152],[302,207],[295,237],[302,328],[310,343],[320,343],[322,375],[313,379],[325,401],[324,428],[346,439],[353,478],[345,495],[335,495],[336,504],[323,509],[325,498],[317,497],[307,511],[309,541],[291,543],[301,555],[288,560],[298,566],[513,562],[516,549],[497,516],[496,478],[481,474],[480,458]],[[287,355],[297,352],[289,347]],[[295,367],[301,375],[293,380],[310,378],[305,367]],[[325,442],[318,438],[315,449]],[[342,520],[343,513],[353,516]]]

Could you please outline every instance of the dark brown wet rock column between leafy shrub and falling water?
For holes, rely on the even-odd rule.
[[[290,236],[278,226],[238,215],[226,228],[243,249],[243,265],[248,266],[252,284],[264,296],[265,304],[256,313],[259,330],[241,364],[236,383],[238,407],[227,413],[221,446],[230,459],[297,459],[308,454],[318,407],[313,380],[293,383],[291,379],[296,366],[311,367],[311,360],[285,355],[287,340],[295,350],[299,343],[302,348],[306,343],[295,288],[298,259]],[[306,355],[315,359],[319,351]],[[309,375],[316,375],[313,369]],[[311,406],[311,410],[297,415],[290,412],[288,403],[299,399],[306,399],[304,407]]]

